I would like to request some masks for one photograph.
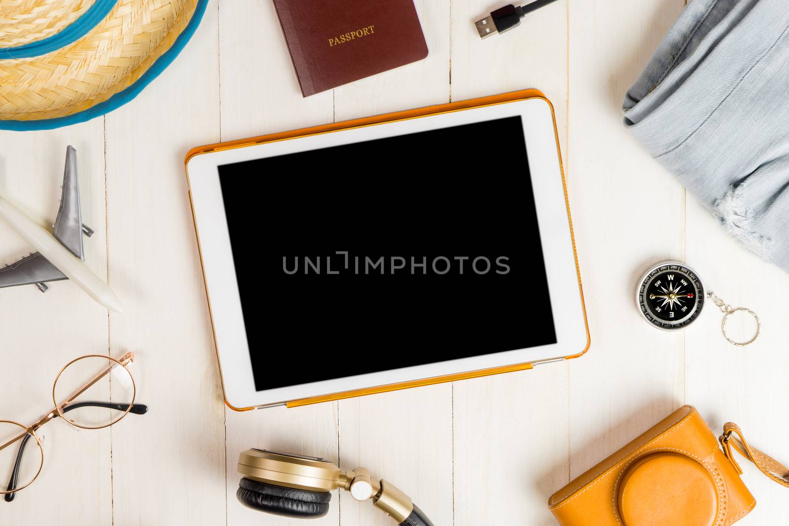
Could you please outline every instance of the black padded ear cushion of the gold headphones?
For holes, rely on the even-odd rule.
[[[248,508],[282,517],[318,518],[329,512],[331,493],[241,479],[236,498]]]

